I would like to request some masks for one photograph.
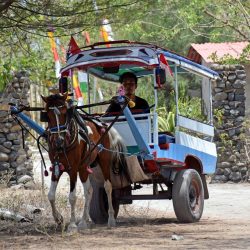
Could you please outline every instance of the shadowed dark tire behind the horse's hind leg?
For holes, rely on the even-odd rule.
[[[91,180],[91,184],[93,187],[93,195],[90,202],[90,218],[96,224],[105,224],[108,222],[108,198],[105,189],[103,185],[100,185],[94,180]],[[112,203],[116,219],[119,212],[119,202],[113,198]]]

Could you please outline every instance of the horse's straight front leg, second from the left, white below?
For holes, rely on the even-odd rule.
[[[76,182],[77,182],[77,173],[70,175],[70,193],[69,193],[69,203],[71,206],[71,216],[70,223],[68,226],[68,232],[76,232],[76,216],[75,216],[75,206],[76,206]]]

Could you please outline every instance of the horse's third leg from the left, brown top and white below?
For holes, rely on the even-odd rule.
[[[88,228],[88,222],[91,221],[90,216],[89,216],[89,207],[90,207],[90,201],[92,198],[93,188],[90,183],[89,176],[86,170],[81,169],[79,171],[79,174],[80,174],[80,180],[83,185],[84,196],[85,196],[83,215],[78,225],[78,229],[82,230],[82,229]]]

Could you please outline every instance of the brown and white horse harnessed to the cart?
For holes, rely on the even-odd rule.
[[[94,163],[99,164],[104,177],[104,189],[108,198],[108,227],[114,227],[116,221],[112,205],[110,168],[126,166],[124,155],[119,153],[126,149],[120,135],[113,127],[104,133],[103,127],[98,126],[91,119],[79,118],[79,112],[67,101],[66,93],[42,96],[42,99],[45,102],[48,119],[48,153],[52,163],[48,199],[55,222],[63,223],[63,217],[55,205],[55,194],[60,177],[63,172],[66,172],[70,178],[69,203],[71,206],[67,231],[74,232],[88,228],[91,223],[89,209],[93,192],[89,178],[92,171],[89,166]],[[102,147],[108,150],[100,150],[97,147],[96,143],[100,141],[100,138]],[[85,196],[83,215],[78,225],[76,225],[75,217],[77,174],[82,182]]]

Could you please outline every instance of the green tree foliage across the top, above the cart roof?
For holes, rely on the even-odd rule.
[[[82,31],[100,41],[101,20],[108,18],[117,40],[152,42],[186,54],[191,43],[250,40],[249,10],[249,0],[3,0],[0,75],[26,67],[48,79],[53,70],[48,30],[64,46],[72,34],[83,46]]]

